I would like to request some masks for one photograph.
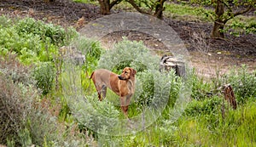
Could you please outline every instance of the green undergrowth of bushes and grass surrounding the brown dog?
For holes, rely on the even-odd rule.
[[[0,144],[256,145],[256,71],[249,72],[244,66],[212,78],[211,82],[191,71],[183,79],[174,71],[161,73],[160,58],[153,56],[143,42],[124,38],[113,50],[103,51],[99,42],[77,38],[76,32],[60,26],[30,19],[1,17],[0,21]],[[5,23],[10,21],[14,25]],[[26,25],[25,30],[19,23]],[[39,26],[44,29],[40,31]],[[84,63],[76,65],[70,59],[60,58],[60,64],[56,64],[56,57],[61,57],[58,48],[73,38],[76,41],[71,45],[84,54]],[[99,102],[89,79],[97,68],[120,73],[125,66],[137,70],[137,92],[128,111],[131,118],[144,119],[135,121],[135,132],[129,132],[130,124],[123,121],[119,97],[108,91],[107,98]],[[55,87],[57,81],[59,88]],[[234,89],[236,110],[218,88],[227,83]],[[148,126],[143,124],[148,120]]]

